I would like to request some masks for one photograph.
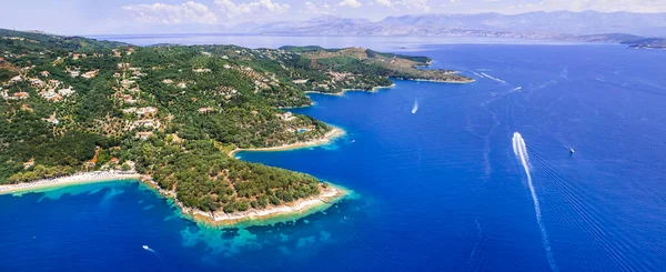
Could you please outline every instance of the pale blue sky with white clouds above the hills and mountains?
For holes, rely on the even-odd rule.
[[[321,16],[379,21],[421,13],[666,12],[666,0],[21,0],[2,3],[2,10],[0,28],[123,34],[219,31]]]

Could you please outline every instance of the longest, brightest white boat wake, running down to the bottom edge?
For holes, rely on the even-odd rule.
[[[529,173],[529,155],[527,154],[527,145],[525,144],[525,140],[523,140],[523,135],[518,132],[514,132],[513,138],[513,148],[514,153],[516,154],[516,159],[521,161],[523,164],[523,169],[525,169],[525,174],[527,175],[527,184],[529,185],[529,193],[532,193],[532,201],[534,202],[534,211],[536,213],[536,222],[538,223],[538,229],[542,232],[542,242],[544,244],[544,249],[546,250],[546,256],[548,259],[548,264],[551,265],[552,271],[559,271],[557,269],[557,264],[555,264],[555,259],[553,258],[553,252],[551,251],[551,242],[548,242],[548,233],[546,232],[546,226],[542,221],[541,206],[538,204],[538,198],[536,197],[536,192],[534,191],[534,185],[532,184],[532,174]]]

